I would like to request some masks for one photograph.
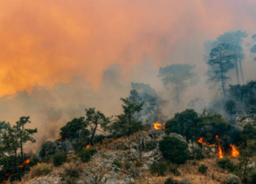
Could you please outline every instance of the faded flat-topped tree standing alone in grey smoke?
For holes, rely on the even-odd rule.
[[[193,71],[194,68],[195,66],[189,64],[172,64],[159,69],[158,77],[162,78],[166,89],[169,85],[174,85],[177,104],[180,103],[181,94],[186,88],[198,81],[198,75]]]

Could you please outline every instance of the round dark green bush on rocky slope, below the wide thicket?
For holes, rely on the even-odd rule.
[[[189,157],[187,144],[175,137],[164,137],[164,140],[159,143],[159,149],[163,157],[172,163],[186,163]]]

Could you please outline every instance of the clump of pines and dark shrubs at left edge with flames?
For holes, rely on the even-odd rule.
[[[30,117],[21,117],[16,125],[8,126],[1,136],[0,181],[7,181],[9,177],[12,177],[12,180],[20,180],[25,166],[30,163],[30,160],[24,157],[24,144],[28,141],[36,142],[33,134],[37,129],[26,129],[27,123],[30,123]]]

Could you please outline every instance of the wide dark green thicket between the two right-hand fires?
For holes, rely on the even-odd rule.
[[[166,122],[166,133],[175,132],[186,136],[186,140],[197,141],[199,137],[206,139],[208,143],[215,143],[215,135],[220,138],[229,134],[232,127],[223,120],[221,115],[203,113],[199,116],[193,109],[186,109],[176,113],[175,117]]]

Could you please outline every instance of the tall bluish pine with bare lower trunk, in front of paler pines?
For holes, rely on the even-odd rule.
[[[224,98],[226,98],[226,81],[229,80],[229,77],[226,76],[226,73],[230,69],[234,68],[232,60],[235,55],[230,52],[229,44],[219,44],[218,47],[215,47],[211,50],[209,54],[209,70],[207,75],[209,76],[209,82],[218,84],[221,83],[221,88]]]

